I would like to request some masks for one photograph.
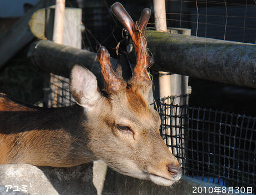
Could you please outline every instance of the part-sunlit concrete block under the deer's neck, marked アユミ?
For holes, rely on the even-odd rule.
[[[68,168],[0,165],[0,194],[97,194],[92,183],[92,167],[93,163]]]

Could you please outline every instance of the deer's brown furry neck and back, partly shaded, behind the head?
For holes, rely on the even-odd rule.
[[[67,167],[91,161],[77,157],[86,141],[78,127],[82,114],[79,106],[28,107],[1,94],[0,164]]]

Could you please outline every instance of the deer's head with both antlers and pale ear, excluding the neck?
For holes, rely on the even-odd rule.
[[[84,109],[80,123],[86,129],[86,146],[94,159],[105,161],[117,172],[170,186],[181,178],[181,169],[160,136],[159,114],[147,101],[151,87],[147,68],[152,59],[147,53],[145,28],[150,9],[144,9],[136,23],[120,3],[111,9],[134,42],[136,67],[126,82],[112,70],[109,52],[101,46],[97,58],[104,77],[104,94],[88,69],[73,67],[70,88]]]

